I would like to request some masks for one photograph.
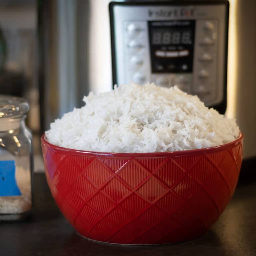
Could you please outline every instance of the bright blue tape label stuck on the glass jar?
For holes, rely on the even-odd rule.
[[[15,179],[14,160],[0,161],[0,196],[20,196]]]

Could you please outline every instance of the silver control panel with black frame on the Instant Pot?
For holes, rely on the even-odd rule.
[[[228,1],[110,2],[113,84],[177,85],[224,114]]]

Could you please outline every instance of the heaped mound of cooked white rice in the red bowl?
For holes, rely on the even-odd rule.
[[[122,85],[83,101],[84,107],[51,123],[50,143],[87,151],[163,152],[218,146],[239,136],[234,120],[177,87]]]

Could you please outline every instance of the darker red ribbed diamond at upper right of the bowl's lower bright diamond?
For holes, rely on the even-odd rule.
[[[170,170],[173,171],[170,172]],[[155,175],[168,187],[174,186],[184,176],[184,174],[185,170],[172,160],[163,164],[155,173]]]

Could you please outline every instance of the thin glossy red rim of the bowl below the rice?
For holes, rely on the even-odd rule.
[[[181,156],[181,155],[197,155],[197,154],[206,154],[219,152],[231,147],[234,147],[236,144],[239,144],[243,140],[242,132],[239,133],[237,139],[232,142],[222,144],[215,147],[201,148],[201,149],[191,149],[191,150],[180,150],[180,151],[170,151],[170,152],[149,152],[149,153],[119,153],[119,152],[97,152],[97,151],[85,151],[77,150],[71,148],[60,147],[54,144],[51,144],[46,139],[46,134],[43,133],[41,136],[41,144],[46,144],[48,147],[51,147],[54,150],[65,152],[66,154],[79,154],[79,155],[95,155],[95,156],[112,156],[112,157],[166,157],[166,156]]]

